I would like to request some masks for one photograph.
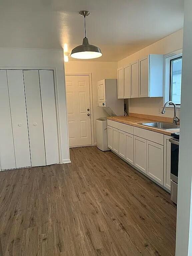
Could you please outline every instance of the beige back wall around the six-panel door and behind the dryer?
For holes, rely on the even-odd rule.
[[[117,62],[69,61],[65,63],[65,74],[91,73],[93,89],[94,141],[96,142],[96,119],[107,117],[107,112],[97,107],[97,82],[106,78],[117,78]]]

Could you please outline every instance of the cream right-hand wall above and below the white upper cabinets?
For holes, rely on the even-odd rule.
[[[170,52],[182,49],[183,47],[183,30],[179,30],[160,41],[147,46],[146,48],[122,59],[118,62],[118,67],[122,67],[136,59],[142,58],[148,54],[168,54]],[[161,115],[160,108],[163,106],[163,97],[159,98],[137,98],[129,100],[129,112],[141,113],[148,115]],[[180,112],[180,111],[178,111]],[[179,113],[178,113],[179,115]],[[173,110],[166,110],[165,115],[173,117]]]

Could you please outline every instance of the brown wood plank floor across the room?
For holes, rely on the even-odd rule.
[[[4,256],[174,255],[169,193],[111,151],[70,156],[70,164],[0,172]]]

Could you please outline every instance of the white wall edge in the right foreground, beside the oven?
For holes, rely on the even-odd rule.
[[[185,0],[176,256],[192,255],[192,1]]]

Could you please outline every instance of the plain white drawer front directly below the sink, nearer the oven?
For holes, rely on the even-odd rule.
[[[164,135],[161,133],[152,132],[152,131],[145,130],[145,129],[138,128],[138,127],[134,127],[133,130],[134,130],[134,135],[136,135],[138,137],[156,142],[161,145],[164,144]]]

